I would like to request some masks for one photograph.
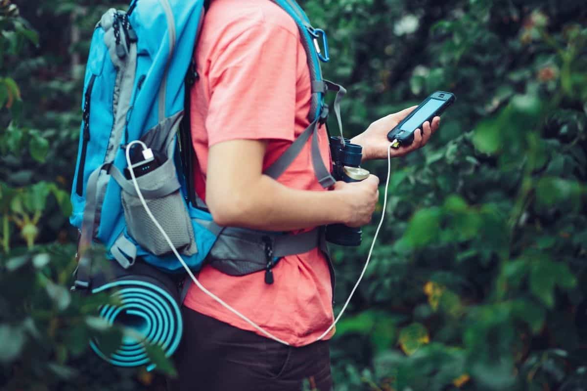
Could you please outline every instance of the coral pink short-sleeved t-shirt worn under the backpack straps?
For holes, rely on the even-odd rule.
[[[200,79],[191,95],[191,131],[199,166],[195,175],[205,179],[211,145],[237,139],[269,140],[264,158],[267,168],[309,125],[311,81],[294,20],[271,1],[215,0],[205,15],[196,53]],[[323,129],[319,142],[329,166],[328,136]],[[242,164],[247,164],[246,157]],[[325,190],[313,172],[311,142],[278,181],[290,188]],[[203,186],[197,191],[204,198]],[[268,194],[266,202],[271,200]],[[268,285],[264,271],[233,277],[204,266],[198,279],[276,337],[294,346],[314,342],[333,321],[324,254],[313,249],[284,257],[273,274],[275,282]],[[195,284],[184,304],[263,335]]]

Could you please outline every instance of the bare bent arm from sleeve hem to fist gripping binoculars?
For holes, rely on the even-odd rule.
[[[363,225],[377,201],[379,180],[337,182],[334,191],[288,188],[262,174],[266,142],[232,140],[212,145],[206,202],[222,226],[296,230],[330,223]]]

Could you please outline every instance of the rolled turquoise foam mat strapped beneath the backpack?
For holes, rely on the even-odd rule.
[[[176,284],[165,273],[146,264],[136,263],[128,271],[117,265],[114,268],[115,277],[104,278],[100,274],[92,279],[93,286],[97,286],[92,293],[107,291],[120,302],[102,305],[99,316],[109,324],[134,329],[142,338],[124,336],[119,348],[110,355],[100,349],[99,338],[93,338],[90,347],[112,365],[146,365],[147,370],[152,370],[155,365],[147,356],[145,344],[159,345],[169,357],[176,351],[183,333]]]

